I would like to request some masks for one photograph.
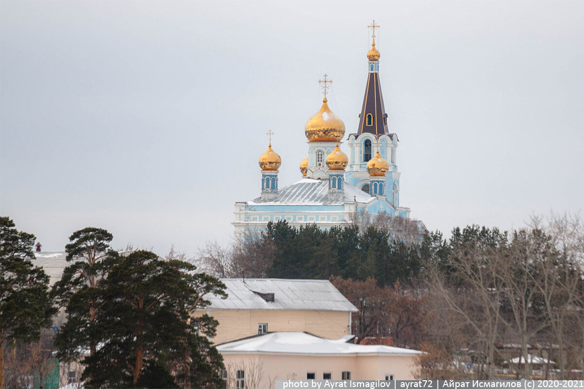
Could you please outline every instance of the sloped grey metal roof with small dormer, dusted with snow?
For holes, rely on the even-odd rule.
[[[210,310],[314,310],[357,312],[328,280],[221,278],[227,299],[208,295]],[[273,293],[274,301],[265,295]],[[262,297],[263,295],[263,297]]]

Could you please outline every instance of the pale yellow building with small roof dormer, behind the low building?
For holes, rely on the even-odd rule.
[[[207,313],[218,322],[211,340],[222,344],[279,331],[301,331],[327,339],[351,334],[351,316],[357,309],[328,280],[221,279],[227,299],[206,296]]]

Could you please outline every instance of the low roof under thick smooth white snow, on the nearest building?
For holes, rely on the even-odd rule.
[[[306,332],[270,332],[257,337],[224,343],[217,346],[223,354],[300,354],[321,356],[387,355],[414,356],[420,351],[381,345],[356,345],[345,339],[331,340]]]

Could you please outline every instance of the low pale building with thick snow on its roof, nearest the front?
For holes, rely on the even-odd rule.
[[[274,332],[217,346],[228,388],[270,388],[276,380],[412,380],[420,351],[356,345],[352,337],[323,339]],[[349,341],[349,342],[347,342]]]

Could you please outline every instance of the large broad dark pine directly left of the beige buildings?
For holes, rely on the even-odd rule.
[[[179,260],[135,251],[96,288],[99,310],[90,331],[96,352],[85,358],[88,387],[221,387],[221,355],[204,334],[217,321],[190,317],[225,285]]]

